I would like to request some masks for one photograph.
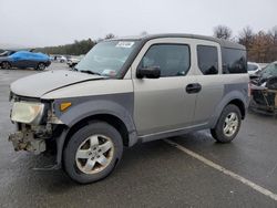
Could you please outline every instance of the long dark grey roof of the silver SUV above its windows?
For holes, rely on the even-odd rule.
[[[232,48],[232,49],[240,49],[245,50],[245,46],[232,41],[227,41],[224,39],[217,39],[213,37],[205,37],[205,35],[198,35],[198,34],[183,34],[183,33],[164,33],[164,34],[148,34],[148,35],[137,35],[137,37],[123,37],[123,38],[116,38],[113,40],[141,40],[141,41],[148,41],[153,39],[160,39],[160,38],[189,38],[189,39],[199,39],[199,40],[207,40],[219,43],[223,48]]]

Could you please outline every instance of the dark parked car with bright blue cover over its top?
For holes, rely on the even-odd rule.
[[[0,56],[0,66],[4,70],[11,67],[45,70],[50,64],[51,61],[47,54],[30,51],[18,51],[9,56]]]

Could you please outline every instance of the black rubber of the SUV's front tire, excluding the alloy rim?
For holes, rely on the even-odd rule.
[[[76,157],[78,157],[76,153],[78,153],[78,150],[80,150],[80,147],[82,146],[82,144],[93,135],[103,135],[103,136],[109,137],[111,139],[110,142],[112,142],[112,144],[113,144],[113,152],[112,152],[113,154],[110,157],[110,162],[106,165],[106,167],[103,167],[104,169],[102,169],[101,171],[98,171],[98,173],[86,174],[80,169],[81,162],[79,163],[79,160],[76,159]],[[69,143],[66,144],[66,146],[64,147],[64,150],[63,150],[63,168],[64,168],[65,173],[73,180],[75,180],[80,184],[94,183],[94,181],[98,181],[98,180],[105,178],[106,176],[109,176],[112,173],[112,170],[114,169],[114,167],[116,166],[116,164],[121,159],[122,152],[123,152],[123,142],[122,142],[121,134],[113,126],[109,125],[107,123],[93,122],[93,123],[80,128],[70,138]],[[95,155],[94,155],[94,158],[96,159]],[[92,160],[93,158],[90,158],[90,159]],[[85,160],[84,164],[86,165],[89,159],[84,159],[84,160]],[[95,164],[101,166],[101,164],[98,162]],[[94,165],[93,165],[93,167],[94,167]],[[93,171],[93,170],[91,170],[91,171]]]

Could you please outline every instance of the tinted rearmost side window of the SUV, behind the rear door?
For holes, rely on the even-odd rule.
[[[223,48],[223,73],[247,73],[246,51]]]

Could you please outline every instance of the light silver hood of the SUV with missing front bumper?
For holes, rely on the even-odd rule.
[[[103,76],[92,75],[74,71],[50,71],[30,75],[13,82],[10,85],[11,92],[28,97],[41,97],[57,89],[69,86],[72,84],[102,80]]]

